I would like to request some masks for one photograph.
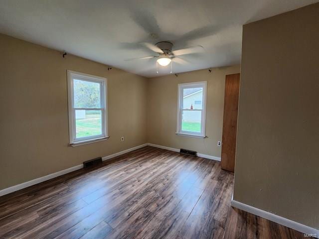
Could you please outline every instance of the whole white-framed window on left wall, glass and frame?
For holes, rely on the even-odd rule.
[[[68,71],[70,144],[108,138],[106,78]]]

